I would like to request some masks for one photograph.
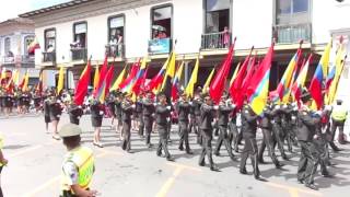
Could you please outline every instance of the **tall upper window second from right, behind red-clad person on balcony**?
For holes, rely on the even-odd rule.
[[[230,27],[230,0],[205,0],[206,33],[223,32]]]

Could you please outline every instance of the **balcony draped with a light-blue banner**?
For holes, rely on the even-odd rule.
[[[172,39],[167,38],[154,38],[149,40],[149,54],[168,54],[172,48]]]

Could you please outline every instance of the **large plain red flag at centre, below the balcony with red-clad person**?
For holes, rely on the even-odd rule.
[[[214,79],[212,80],[210,88],[209,88],[209,94],[213,102],[218,104],[220,102],[221,95],[223,93],[223,90],[225,88],[225,82],[230,72],[231,63],[233,60],[233,53],[234,53],[234,43],[230,47],[229,54],[222,63],[221,68],[219,69],[218,73],[215,74]]]

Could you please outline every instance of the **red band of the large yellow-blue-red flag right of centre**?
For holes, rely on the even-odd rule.
[[[255,92],[255,90],[258,88],[258,85],[262,81],[266,72],[269,71],[269,69],[271,68],[271,62],[273,59],[273,47],[275,47],[275,43],[271,44],[265,58],[262,59],[260,65],[256,68],[257,72],[254,72],[254,74],[249,79],[249,82],[247,82],[246,90],[245,90],[247,97],[252,96],[252,94]]]

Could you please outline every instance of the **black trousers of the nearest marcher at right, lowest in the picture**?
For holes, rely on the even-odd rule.
[[[298,167],[298,179],[305,184],[313,184],[314,176],[319,163],[319,155],[315,143],[299,141],[301,146],[301,157]]]

